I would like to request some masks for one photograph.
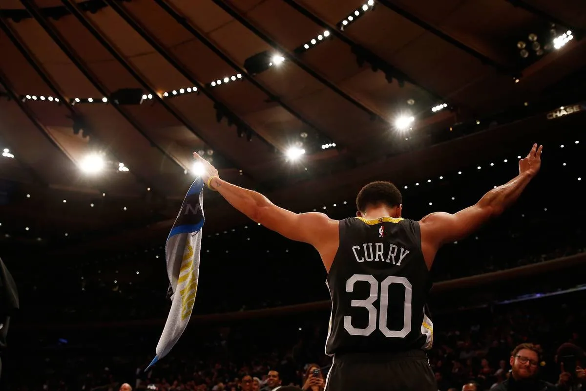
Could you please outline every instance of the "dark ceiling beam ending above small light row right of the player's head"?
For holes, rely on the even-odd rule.
[[[434,97],[437,101],[446,101],[444,97],[439,96],[437,93],[431,91],[428,87],[422,86],[420,82],[417,80],[412,79],[402,70],[398,69],[397,67],[389,64],[385,60],[381,59],[381,57],[377,56],[366,47],[356,43],[354,40],[349,38],[347,35],[342,33],[336,26],[332,26],[329,23],[323,21],[319,16],[316,16],[315,13],[309,11],[309,9],[305,8],[295,0],[282,0],[287,3],[291,8],[295,9],[295,11],[301,13],[301,15],[305,16],[306,18],[310,19],[316,25],[321,26],[324,29],[329,30],[333,36],[341,40],[346,45],[350,46],[352,49],[357,49],[356,52],[362,53],[366,57],[367,62],[374,62],[375,64],[383,64],[384,69],[390,70],[390,76],[394,79],[401,80],[401,81],[408,81],[408,83],[413,84],[414,86],[419,87],[420,89],[424,90],[426,93],[430,94],[430,96]],[[353,50],[354,52],[354,50]],[[370,61],[369,61],[370,59]],[[375,65],[372,64],[372,65]],[[383,67],[379,67],[379,69],[383,69]]]

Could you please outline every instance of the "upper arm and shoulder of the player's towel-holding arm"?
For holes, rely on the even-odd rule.
[[[297,242],[312,244],[319,250],[325,242],[338,239],[338,220],[317,212],[294,213],[274,204],[261,206],[253,220]]]

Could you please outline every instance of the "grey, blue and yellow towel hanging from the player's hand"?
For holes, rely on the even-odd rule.
[[[156,345],[156,356],[145,371],[171,351],[189,323],[197,293],[204,220],[203,180],[197,178],[183,200],[165,245],[172,304]]]

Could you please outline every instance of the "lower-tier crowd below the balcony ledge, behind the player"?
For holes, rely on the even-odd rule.
[[[584,346],[584,298],[586,293],[577,291],[461,310],[458,316],[438,314],[434,317],[434,347],[428,352],[438,389],[474,390],[471,383],[475,383],[476,390],[506,389],[496,385],[511,378],[511,363],[513,372],[517,365],[526,375],[537,373],[540,379],[554,385],[560,379],[563,382],[564,376],[569,376],[565,372],[571,369],[565,368],[565,375],[560,375],[562,368],[556,351],[564,342]],[[20,365],[26,369],[22,377],[17,375],[20,372],[8,372],[7,390],[117,391],[123,383],[135,390],[159,391],[271,390],[277,383],[308,390],[307,379],[314,369],[319,370],[322,380],[329,369],[331,360],[323,354],[326,327],[327,314],[320,313],[188,329],[171,354],[149,372],[144,372],[144,368],[152,358],[149,352],[154,349],[160,330],[129,330],[125,334],[101,331],[101,337],[97,331],[91,337],[92,333],[82,331],[83,336],[75,337],[77,345],[70,341],[69,345],[52,346],[45,352],[47,358],[43,353],[29,355],[25,347],[22,356],[15,352],[18,345],[46,345],[46,340],[31,342],[27,336],[15,336],[11,357],[23,362],[13,362],[12,368]],[[23,342],[25,339],[28,342]],[[536,348],[514,351],[519,344],[535,344]],[[540,349],[543,355],[536,359],[534,351]],[[43,352],[39,346],[32,350]],[[29,368],[42,370],[29,374]],[[583,374],[580,367],[577,373]],[[312,381],[319,391],[322,382]],[[558,389],[569,390],[561,386]]]

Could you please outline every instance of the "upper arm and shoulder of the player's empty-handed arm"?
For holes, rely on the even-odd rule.
[[[464,239],[478,230],[500,211],[490,205],[476,203],[458,213],[435,212],[425,216],[420,221],[421,240],[441,246],[442,244]]]

